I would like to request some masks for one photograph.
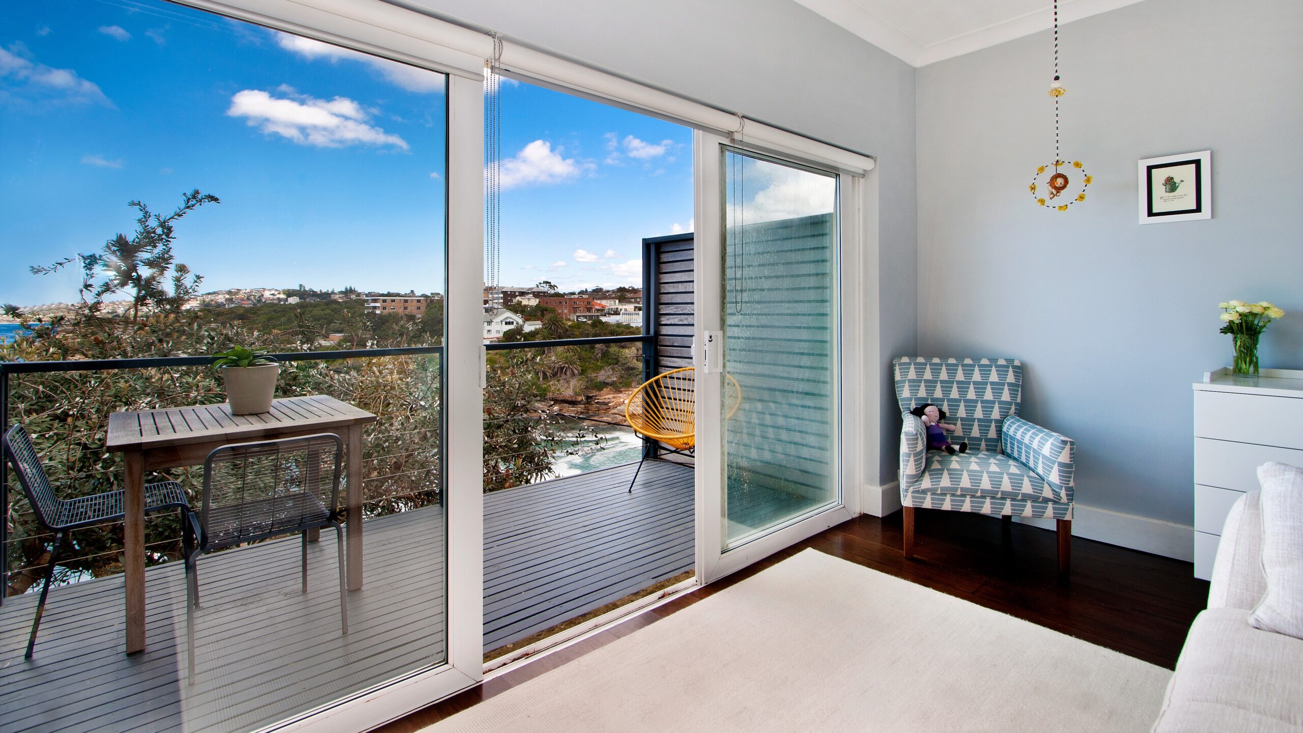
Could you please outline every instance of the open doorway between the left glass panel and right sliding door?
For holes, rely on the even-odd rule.
[[[675,356],[641,338],[644,318],[658,334],[663,301],[642,287],[667,239],[687,248],[672,265],[691,310],[693,188],[688,128],[509,80],[486,94],[502,190],[483,291],[491,660],[692,574],[692,466],[653,454],[625,403]],[[593,338],[611,342],[556,346]]]

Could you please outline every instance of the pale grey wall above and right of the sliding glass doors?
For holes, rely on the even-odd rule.
[[[881,386],[915,351],[915,69],[792,0],[407,0],[435,14],[877,157]],[[880,480],[899,416],[878,417]],[[872,479],[870,479],[872,480]]]

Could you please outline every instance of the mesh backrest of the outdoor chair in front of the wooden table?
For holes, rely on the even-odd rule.
[[[335,518],[343,456],[334,433],[215,449],[203,462],[203,545],[229,546]]]

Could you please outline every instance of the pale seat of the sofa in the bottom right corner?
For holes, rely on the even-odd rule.
[[[1154,733],[1303,730],[1303,639],[1259,631],[1248,612],[1195,618]]]

